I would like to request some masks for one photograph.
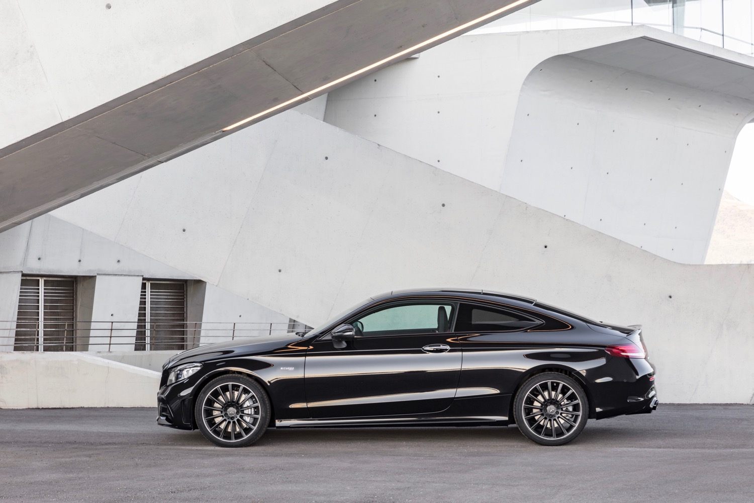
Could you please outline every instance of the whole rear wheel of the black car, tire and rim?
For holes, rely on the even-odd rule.
[[[521,433],[543,446],[562,446],[578,437],[589,416],[587,394],[566,374],[547,372],[521,385],[513,403]]]

